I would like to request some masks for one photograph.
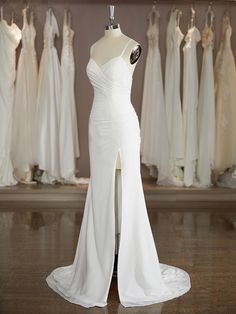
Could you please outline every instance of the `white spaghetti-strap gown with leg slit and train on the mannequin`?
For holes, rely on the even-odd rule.
[[[127,45],[132,41],[130,39]],[[115,172],[120,153],[121,226],[117,265],[120,303],[144,306],[190,289],[183,269],[159,263],[140,173],[140,127],[130,95],[132,73],[123,53],[99,66],[90,57],[94,89],[89,116],[90,181],[73,264],[54,269],[46,281],[69,302],[107,305],[115,257]],[[131,45],[132,46],[132,45]]]

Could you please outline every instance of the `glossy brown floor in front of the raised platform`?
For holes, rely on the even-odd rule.
[[[236,313],[236,213],[148,213],[160,262],[190,274],[189,293],[160,304],[125,308],[113,278],[107,307],[71,304],[51,291],[45,278],[55,267],[73,261],[83,212],[16,209],[0,211],[0,312]]]

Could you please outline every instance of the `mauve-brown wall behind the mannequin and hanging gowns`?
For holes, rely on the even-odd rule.
[[[15,13],[15,22],[19,27],[22,27],[22,14],[21,10],[25,6],[25,1],[4,1],[4,17],[10,21],[12,11]],[[0,1],[0,5],[3,2]],[[196,26],[199,30],[203,29],[205,12],[209,2],[195,2],[196,10]],[[40,60],[42,47],[43,47],[43,25],[45,21],[45,13],[48,7],[51,7],[57,17],[59,29],[62,31],[63,11],[69,8],[72,12],[72,27],[75,30],[74,38],[74,54],[76,62],[76,80],[75,92],[78,114],[78,127],[79,127],[79,142],[81,157],[78,160],[79,176],[89,176],[89,152],[88,152],[88,118],[91,109],[93,91],[86,75],[86,64],[89,59],[89,48],[104,34],[105,25],[108,22],[107,5],[110,3],[103,3],[99,1],[86,2],[86,1],[31,1],[30,5],[35,12],[35,26],[37,30],[36,50],[38,59]],[[147,1],[132,1],[129,3],[116,3],[115,17],[116,21],[120,24],[123,33],[138,41],[143,52],[137,65],[133,76],[132,87],[132,103],[135,110],[140,117],[141,113],[141,100],[142,100],[142,86],[143,76],[145,69],[145,59],[147,54],[146,42],[146,17],[151,9],[152,2]],[[175,6],[183,11],[183,17],[180,21],[180,27],[183,33],[187,31],[188,21],[190,19],[190,4],[186,2],[175,1],[159,1],[158,8],[161,14],[160,17],[160,51],[162,56],[162,69],[164,74],[165,64],[165,36],[166,26],[170,9]],[[227,1],[213,3],[215,12],[215,33],[216,43],[215,47],[219,45],[221,33],[221,20],[224,11],[230,11],[233,17],[236,13],[236,5],[227,3]],[[233,30],[236,30],[236,20],[232,19]],[[60,57],[61,52],[61,37],[56,39],[56,47]],[[183,46],[183,45],[182,45]],[[181,49],[182,49],[181,46]],[[235,51],[235,36],[232,37],[232,47]],[[20,47],[18,48],[17,55],[19,55]],[[216,53],[216,49],[215,52]],[[198,65],[199,70],[201,66],[202,49],[201,45],[198,46]],[[142,167],[142,176],[147,177],[148,171]]]

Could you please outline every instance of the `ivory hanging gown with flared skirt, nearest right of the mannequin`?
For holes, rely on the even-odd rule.
[[[154,16],[154,17],[153,17]],[[141,112],[141,162],[158,168],[157,183],[171,178],[168,134],[158,46],[159,12],[153,9],[148,17],[148,53],[146,59],[142,112]]]

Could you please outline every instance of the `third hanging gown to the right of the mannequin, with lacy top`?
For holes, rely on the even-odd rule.
[[[192,26],[185,36],[183,76],[183,121],[184,121],[184,184],[191,186],[196,180],[198,66],[196,46],[200,41],[199,30]]]

